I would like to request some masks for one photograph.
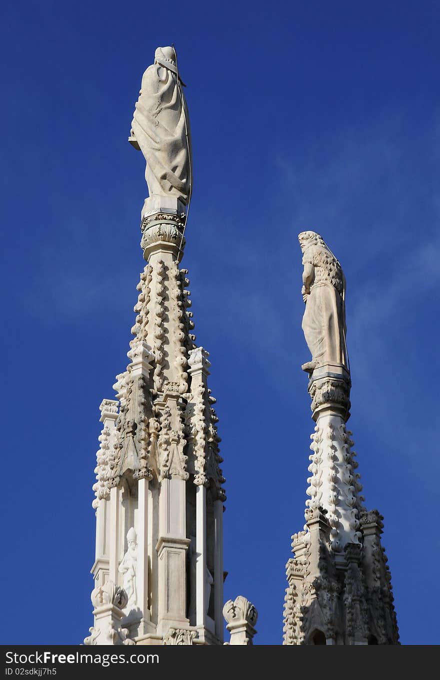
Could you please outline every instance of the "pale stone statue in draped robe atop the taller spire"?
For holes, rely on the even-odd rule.
[[[175,48],[159,47],[142,77],[128,141],[147,162],[150,199],[175,197],[187,205],[191,193],[191,135],[187,105],[177,75]]]

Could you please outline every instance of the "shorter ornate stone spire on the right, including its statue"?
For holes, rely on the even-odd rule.
[[[390,571],[380,542],[383,517],[367,511],[353,450],[345,277],[314,232],[299,235],[306,303],[303,330],[312,360],[310,477],[304,530],[287,562],[284,645],[397,645]]]

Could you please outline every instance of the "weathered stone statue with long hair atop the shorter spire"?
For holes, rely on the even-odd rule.
[[[304,265],[301,294],[306,303],[302,329],[312,354],[301,368],[312,373],[330,363],[348,370],[344,272],[319,234],[303,231],[298,239]]]

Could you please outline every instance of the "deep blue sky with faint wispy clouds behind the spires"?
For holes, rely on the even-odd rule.
[[[225,599],[280,644],[313,422],[297,234],[347,278],[352,418],[385,517],[405,644],[437,644],[440,5],[3,8],[2,643],[92,625],[98,406],[126,366],[143,268],[141,75],[176,44],[194,144],[183,265],[210,352],[227,477]]]

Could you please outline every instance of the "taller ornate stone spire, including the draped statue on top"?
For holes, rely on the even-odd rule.
[[[171,54],[171,48],[162,49]],[[148,83],[162,69],[162,84],[169,76],[168,94],[175,88],[183,97],[175,62],[161,59],[164,64],[149,67],[142,96],[155,96]],[[184,99],[181,107],[176,139],[189,144]],[[151,172],[162,177],[159,166],[172,164],[168,155],[174,147],[160,152],[155,141],[149,150],[141,114],[150,109],[136,105],[136,111],[136,137],[132,132],[130,141],[139,141]],[[169,128],[169,120],[162,122]],[[160,129],[157,124],[158,135]],[[209,355],[192,332],[188,272],[179,267],[190,156],[187,148],[179,176],[167,175],[174,193],[161,194],[160,182],[147,173],[150,192],[158,193],[146,199],[141,214],[147,265],[137,286],[130,362],[116,377],[116,399],[100,405],[94,626],[88,645],[223,643],[225,480],[218,419],[208,388]]]

